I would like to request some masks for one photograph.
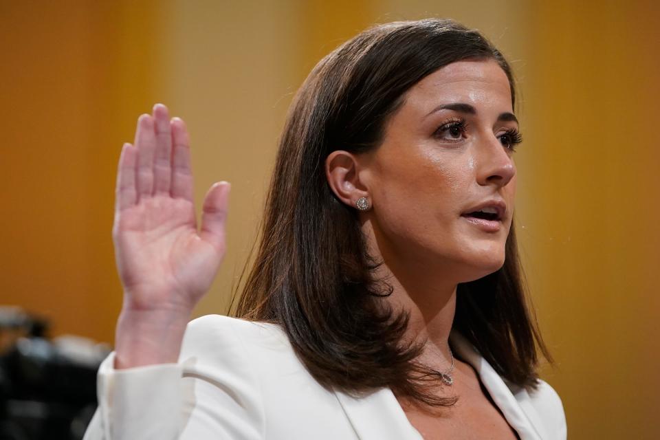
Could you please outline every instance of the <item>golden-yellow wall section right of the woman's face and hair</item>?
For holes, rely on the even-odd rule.
[[[660,435],[658,17],[650,2],[529,9],[520,203],[573,438]]]

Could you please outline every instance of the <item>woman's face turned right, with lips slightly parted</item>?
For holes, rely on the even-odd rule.
[[[498,270],[519,140],[509,81],[496,61],[452,63],[408,90],[360,170],[386,263],[456,283]]]

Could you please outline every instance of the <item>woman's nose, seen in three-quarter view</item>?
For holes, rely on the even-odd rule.
[[[503,146],[495,135],[489,135],[477,150],[478,184],[482,186],[496,185],[501,188],[516,175],[516,165],[511,157],[512,152]]]

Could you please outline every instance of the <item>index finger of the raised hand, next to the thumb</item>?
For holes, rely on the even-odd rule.
[[[190,169],[190,136],[186,124],[179,118],[173,118],[172,126],[172,197],[193,202],[192,170]]]

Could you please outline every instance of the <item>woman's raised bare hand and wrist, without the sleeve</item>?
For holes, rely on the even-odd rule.
[[[176,362],[190,312],[225,254],[229,185],[211,186],[197,230],[184,122],[156,104],[120,156],[113,241],[124,303],[115,367]]]

